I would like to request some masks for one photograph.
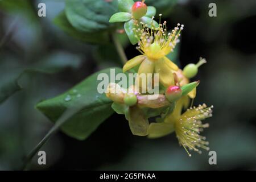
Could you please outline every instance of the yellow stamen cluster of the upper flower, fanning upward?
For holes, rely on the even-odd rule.
[[[161,14],[159,15],[161,17]],[[152,17],[152,20],[154,16]],[[167,32],[167,22],[160,23],[159,27],[155,27],[153,21],[148,24],[141,22],[140,24],[135,23],[137,28],[133,28],[135,36],[139,39],[137,49],[142,54],[146,55],[151,60],[158,60],[168,55],[175,48],[179,42],[180,32],[183,30],[183,24],[177,24],[171,32]]]

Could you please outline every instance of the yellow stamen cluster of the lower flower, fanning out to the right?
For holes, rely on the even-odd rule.
[[[177,139],[189,156],[191,154],[187,148],[199,152],[199,154],[201,154],[201,151],[197,147],[209,150],[209,142],[205,141],[206,138],[202,137],[200,132],[204,128],[209,127],[209,123],[203,124],[201,120],[212,117],[212,108],[213,106],[207,107],[205,104],[199,105],[198,107],[191,107],[175,122]]]

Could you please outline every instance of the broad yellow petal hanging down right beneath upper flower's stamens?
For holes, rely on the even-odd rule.
[[[155,63],[155,73],[159,73],[159,81],[164,87],[174,85],[174,75],[164,59]]]

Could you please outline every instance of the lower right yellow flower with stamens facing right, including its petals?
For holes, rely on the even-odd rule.
[[[212,117],[212,108],[205,104],[198,107],[191,107],[183,114],[184,98],[181,98],[175,107],[175,110],[168,115],[162,123],[151,123],[148,127],[148,138],[158,138],[170,134],[175,131],[180,146],[183,146],[188,155],[188,150],[201,153],[199,148],[209,150],[209,142],[205,141],[205,137],[200,133],[204,128],[209,127],[208,123],[203,124],[202,120]]]

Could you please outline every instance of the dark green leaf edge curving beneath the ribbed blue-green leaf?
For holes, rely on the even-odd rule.
[[[86,43],[94,43],[94,44],[106,44],[109,42],[109,36],[108,32],[101,31],[101,32],[81,32],[79,30],[76,30],[67,19],[67,16],[65,15],[65,12],[61,12],[59,15],[56,16],[54,19],[54,23],[61,28],[65,33],[68,35],[73,36],[73,38],[76,38],[78,40],[81,40],[82,42]]]

